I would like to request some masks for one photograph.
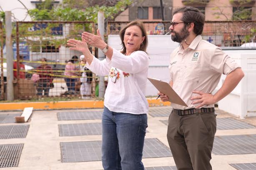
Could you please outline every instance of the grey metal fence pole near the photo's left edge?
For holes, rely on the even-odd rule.
[[[12,13],[5,11],[6,31],[6,65],[7,65],[7,100],[14,100],[13,92],[13,40],[12,40]]]

